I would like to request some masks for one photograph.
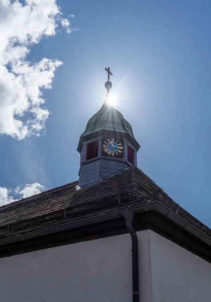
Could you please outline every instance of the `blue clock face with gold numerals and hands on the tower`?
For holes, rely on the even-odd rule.
[[[122,141],[117,138],[103,138],[102,153],[112,157],[123,157]]]

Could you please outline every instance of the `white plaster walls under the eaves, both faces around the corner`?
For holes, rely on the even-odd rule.
[[[138,232],[141,302],[210,302],[211,264]],[[132,302],[128,234],[0,259],[0,302]]]

